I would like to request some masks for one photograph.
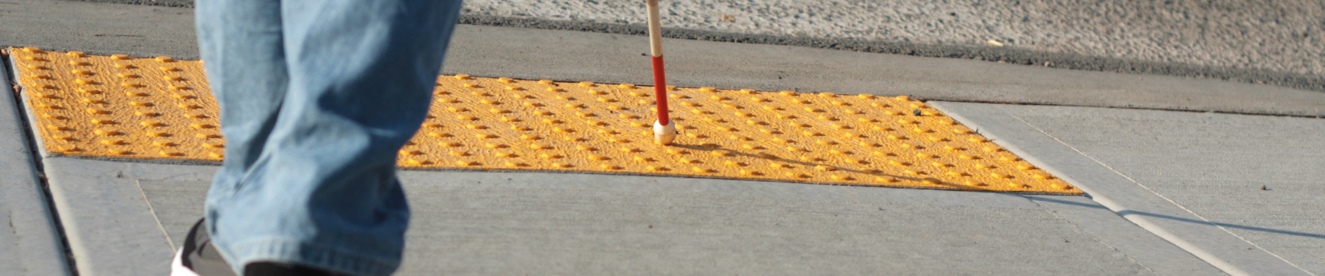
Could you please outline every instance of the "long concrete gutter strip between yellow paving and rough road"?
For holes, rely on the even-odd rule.
[[[5,45],[196,58],[192,9],[13,0]],[[126,36],[119,36],[125,33]],[[132,37],[142,36],[142,37]],[[445,73],[652,84],[644,36],[460,25]],[[1325,117],[1325,93],[803,46],[666,40],[678,86],[909,94],[924,100]]]

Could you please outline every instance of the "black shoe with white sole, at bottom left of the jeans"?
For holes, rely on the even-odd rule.
[[[212,236],[203,226],[205,219],[199,219],[193,228],[184,238],[184,247],[175,252],[171,261],[171,276],[236,276],[231,264],[221,259],[221,253],[212,247]]]

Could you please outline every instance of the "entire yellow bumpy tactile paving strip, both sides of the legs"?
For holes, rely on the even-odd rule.
[[[11,49],[46,150],[223,158],[201,62]],[[653,143],[653,89],[443,76],[401,167],[563,170],[1080,194],[924,102],[670,89],[681,135]]]

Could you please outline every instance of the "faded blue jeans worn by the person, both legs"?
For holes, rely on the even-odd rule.
[[[396,151],[428,111],[460,0],[197,0],[225,162],[207,228],[253,261],[350,275],[400,265]]]

